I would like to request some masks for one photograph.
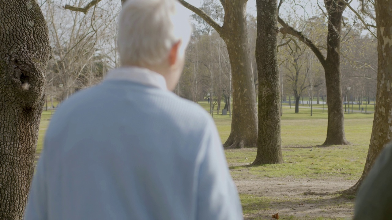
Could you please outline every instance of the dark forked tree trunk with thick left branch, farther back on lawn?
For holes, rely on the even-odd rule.
[[[302,34],[290,27],[281,18],[279,23],[283,26],[280,31],[290,34],[304,42],[319,59],[325,72],[328,103],[328,128],[327,138],[323,145],[350,144],[346,140],[344,132],[343,98],[341,90],[340,71],[340,41],[341,23],[343,11],[346,5],[341,1],[324,0],[328,13],[328,36],[327,36],[327,58],[314,45],[314,43]]]

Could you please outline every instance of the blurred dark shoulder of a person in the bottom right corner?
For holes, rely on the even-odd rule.
[[[392,219],[392,142],[380,152],[356,196],[354,220]]]

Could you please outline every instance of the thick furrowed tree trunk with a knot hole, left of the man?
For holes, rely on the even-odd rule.
[[[22,220],[51,49],[36,1],[0,0],[0,219]]]

